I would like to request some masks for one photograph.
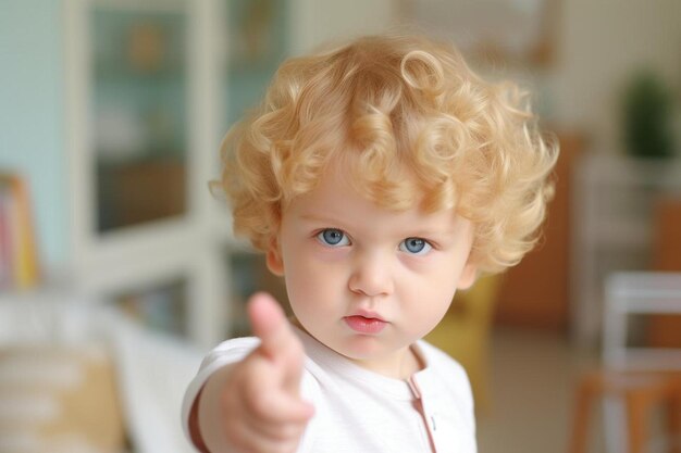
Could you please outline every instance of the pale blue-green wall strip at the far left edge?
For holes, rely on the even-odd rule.
[[[62,2],[0,1],[0,169],[30,185],[48,266],[67,257]]]

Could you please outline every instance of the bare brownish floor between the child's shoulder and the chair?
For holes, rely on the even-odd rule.
[[[478,416],[480,453],[567,453],[577,376],[597,363],[565,335],[497,329],[491,407]],[[592,452],[602,452],[594,417]]]

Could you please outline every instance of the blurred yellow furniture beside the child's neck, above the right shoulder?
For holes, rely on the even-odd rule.
[[[479,412],[490,407],[487,360],[500,280],[499,275],[485,276],[458,291],[443,320],[425,337],[466,368]]]

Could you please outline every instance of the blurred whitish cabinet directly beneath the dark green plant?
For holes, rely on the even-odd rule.
[[[572,337],[594,345],[603,325],[605,277],[649,268],[656,202],[681,197],[681,160],[584,154],[573,177]]]

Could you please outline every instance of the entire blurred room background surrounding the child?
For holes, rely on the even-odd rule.
[[[480,452],[681,452],[680,25],[679,0],[0,0],[0,452],[193,451],[202,355],[253,290],[286,300],[209,190],[221,139],[283,59],[396,26],[525,87],[561,146],[541,246],[429,337]]]

